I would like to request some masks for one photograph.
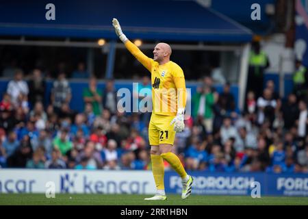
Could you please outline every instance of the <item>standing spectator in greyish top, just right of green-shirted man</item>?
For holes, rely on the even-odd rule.
[[[114,81],[108,80],[103,92],[103,108],[109,110],[112,115],[116,114],[116,105],[118,104],[117,100]]]

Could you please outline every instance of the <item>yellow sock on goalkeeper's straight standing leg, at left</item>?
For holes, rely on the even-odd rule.
[[[164,162],[160,155],[151,155],[152,172],[157,190],[164,190]]]

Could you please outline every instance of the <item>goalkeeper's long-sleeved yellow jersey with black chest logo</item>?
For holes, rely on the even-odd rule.
[[[153,113],[175,116],[178,107],[185,108],[186,88],[183,70],[175,62],[159,65],[127,40],[125,47],[151,72]]]

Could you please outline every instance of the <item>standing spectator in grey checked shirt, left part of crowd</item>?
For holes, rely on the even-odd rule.
[[[53,82],[53,88],[51,90],[51,104],[56,113],[60,112],[60,109],[64,103],[69,104],[72,98],[70,85],[66,79],[64,72],[60,72],[57,80]]]

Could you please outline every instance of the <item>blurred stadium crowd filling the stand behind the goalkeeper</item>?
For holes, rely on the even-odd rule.
[[[82,76],[82,73],[75,73]],[[65,73],[53,82],[44,105],[46,81],[16,70],[0,96],[2,168],[145,170],[151,168],[147,137],[151,113],[117,110],[114,81],[105,90],[88,78],[84,112],[70,109],[73,92]],[[151,89],[142,77],[138,89]],[[249,88],[249,85],[248,85]],[[305,88],[307,90],[307,88]],[[218,93],[210,76],[192,94],[192,116],[177,133],[174,152],[187,170],[211,172],[308,172],[307,95],[281,99],[267,81],[261,96],[248,89],[240,112],[229,83]],[[136,91],[138,92],[138,90]],[[165,163],[166,169],[170,168]]]

